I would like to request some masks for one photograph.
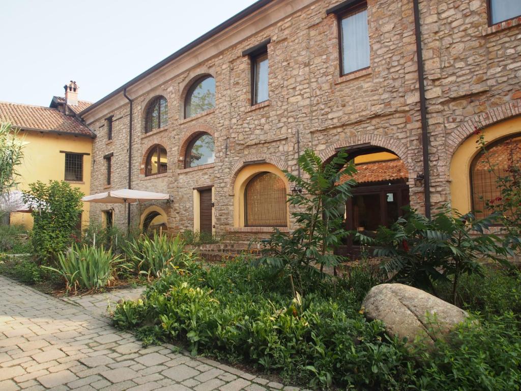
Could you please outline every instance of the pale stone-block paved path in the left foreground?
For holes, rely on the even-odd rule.
[[[143,348],[132,334],[112,327],[100,311],[90,312],[81,302],[73,305],[2,276],[0,298],[1,391],[283,388],[216,361],[172,352],[171,345]],[[92,303],[86,307],[102,308],[99,303],[106,301],[95,295],[85,302]]]

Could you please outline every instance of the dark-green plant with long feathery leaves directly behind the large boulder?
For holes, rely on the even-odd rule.
[[[481,273],[481,259],[487,256],[510,266],[510,249],[499,237],[486,234],[495,216],[477,219],[446,207],[428,219],[409,209],[390,228],[380,227],[376,239],[358,234],[361,241],[378,246],[374,256],[383,260],[383,269],[392,282],[412,285],[437,295],[435,281],[450,282],[451,301],[462,275]],[[479,233],[479,235],[476,235]]]

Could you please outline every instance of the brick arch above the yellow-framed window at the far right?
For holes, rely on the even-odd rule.
[[[521,101],[519,100],[505,103],[468,119],[465,123],[458,126],[447,139],[447,164],[450,165],[454,152],[467,137],[476,131],[476,128],[482,129],[517,115],[521,115]]]

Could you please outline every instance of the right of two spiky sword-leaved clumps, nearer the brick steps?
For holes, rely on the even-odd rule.
[[[192,252],[184,251],[184,245],[179,235],[172,239],[154,233],[152,238],[141,235],[127,242],[125,254],[135,272],[159,277],[172,266],[184,266],[194,258]]]

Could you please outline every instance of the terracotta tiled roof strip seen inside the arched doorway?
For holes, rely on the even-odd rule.
[[[356,165],[358,172],[353,178],[359,183],[366,182],[382,182],[387,180],[408,178],[407,168],[400,159],[361,163]],[[341,181],[348,180],[349,177],[343,177]]]

